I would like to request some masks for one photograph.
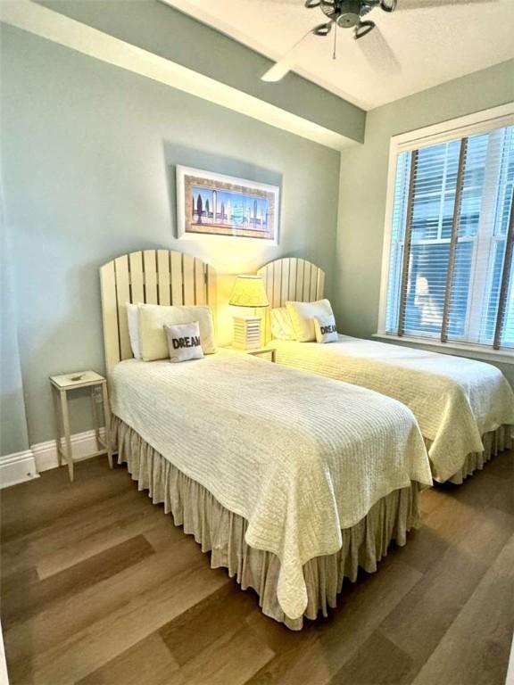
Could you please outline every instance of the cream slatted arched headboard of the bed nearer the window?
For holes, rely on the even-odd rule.
[[[287,300],[313,302],[323,297],[325,272],[296,257],[270,261],[257,274],[262,276],[270,307],[283,307]],[[271,340],[269,310],[264,325],[264,342]]]

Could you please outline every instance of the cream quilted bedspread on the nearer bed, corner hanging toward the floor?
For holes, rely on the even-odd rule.
[[[409,409],[375,392],[233,351],[182,364],[123,361],[112,410],[248,521],[246,542],[281,561],[278,601],[307,605],[303,564],[413,481],[431,484]]]

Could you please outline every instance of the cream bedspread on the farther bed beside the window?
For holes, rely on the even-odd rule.
[[[514,424],[514,393],[491,364],[340,335],[339,342],[274,340],[277,361],[382,392],[406,404],[432,442],[436,480],[448,480],[470,452],[484,450],[482,435]]]

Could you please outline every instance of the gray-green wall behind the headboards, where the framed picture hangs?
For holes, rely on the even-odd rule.
[[[48,376],[104,368],[98,267],[119,254],[177,249],[225,274],[302,256],[332,294],[338,153],[19,29],[3,27],[1,56],[30,444],[54,437]],[[176,163],[280,185],[279,246],[177,241]],[[90,427],[88,409],[73,400],[73,432]]]

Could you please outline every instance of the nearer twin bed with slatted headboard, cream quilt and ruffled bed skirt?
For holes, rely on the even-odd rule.
[[[309,268],[299,299],[322,294]],[[405,543],[430,462],[412,411],[385,393],[223,349],[180,364],[132,359],[127,302],[215,311],[215,278],[203,261],[168,251],[101,269],[119,460],[213,567],[299,630],[336,606],[345,577],[375,571],[391,541]]]

